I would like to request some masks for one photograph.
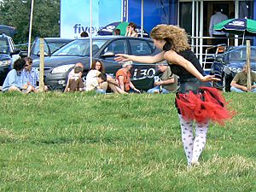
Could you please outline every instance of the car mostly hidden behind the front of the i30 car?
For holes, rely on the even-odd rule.
[[[73,38],[44,38],[44,56],[50,56],[56,49],[60,49],[63,45],[71,41],[73,41]],[[27,51],[21,51],[20,56],[26,57]],[[30,56],[32,60],[39,58],[40,38],[36,38],[33,41]]]

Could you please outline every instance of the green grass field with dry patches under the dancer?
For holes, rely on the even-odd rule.
[[[0,94],[0,191],[256,191],[256,99],[186,164],[174,95]]]

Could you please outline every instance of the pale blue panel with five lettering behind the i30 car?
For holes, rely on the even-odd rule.
[[[81,32],[92,35],[109,23],[121,19],[121,0],[93,0],[90,29],[90,0],[61,0],[61,38],[79,38]]]

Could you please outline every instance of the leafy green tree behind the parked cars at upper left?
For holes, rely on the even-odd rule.
[[[60,1],[34,0],[32,39],[60,36]],[[1,24],[17,29],[15,43],[26,43],[29,34],[31,0],[3,0],[0,4]]]

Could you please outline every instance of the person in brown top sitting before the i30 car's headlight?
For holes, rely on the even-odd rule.
[[[84,82],[82,80],[83,71],[84,69],[82,67],[74,67],[74,74],[68,79],[67,92],[84,90]]]

